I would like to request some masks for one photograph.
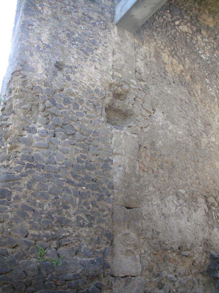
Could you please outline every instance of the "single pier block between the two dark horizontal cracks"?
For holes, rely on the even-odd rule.
[[[140,209],[114,206],[113,235],[113,275],[140,275]]]

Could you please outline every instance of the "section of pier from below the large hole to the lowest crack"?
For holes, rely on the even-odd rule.
[[[138,137],[113,132],[113,274],[141,273],[141,186],[138,168]]]

